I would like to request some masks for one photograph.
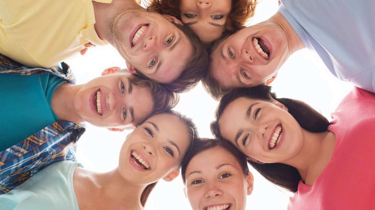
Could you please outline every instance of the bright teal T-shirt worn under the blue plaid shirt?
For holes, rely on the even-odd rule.
[[[58,120],[51,101],[63,82],[50,73],[0,74],[0,151]]]

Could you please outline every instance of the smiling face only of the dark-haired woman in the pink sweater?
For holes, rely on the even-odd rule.
[[[237,98],[221,114],[219,129],[224,139],[264,163],[286,163],[302,146],[302,128],[276,101]]]

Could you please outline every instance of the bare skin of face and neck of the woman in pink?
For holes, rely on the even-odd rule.
[[[270,148],[276,127],[279,143]],[[331,160],[335,134],[311,133],[301,128],[278,101],[240,97],[228,104],[219,119],[220,134],[248,159],[258,163],[284,163],[297,168],[306,185],[312,185]]]

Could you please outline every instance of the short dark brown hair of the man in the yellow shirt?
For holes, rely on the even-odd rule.
[[[185,69],[181,72],[180,76],[171,83],[162,83],[162,85],[173,92],[183,93],[195,87],[207,71],[208,53],[200,42],[198,36],[189,27],[174,22],[172,23],[187,36],[193,47],[193,53],[191,58],[187,61]],[[135,70],[141,77],[148,78],[140,70]],[[154,81],[158,82],[156,80]]]

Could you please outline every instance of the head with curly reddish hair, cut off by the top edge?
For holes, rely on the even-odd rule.
[[[243,27],[255,5],[256,0],[150,0],[148,9],[180,19],[209,44]]]

